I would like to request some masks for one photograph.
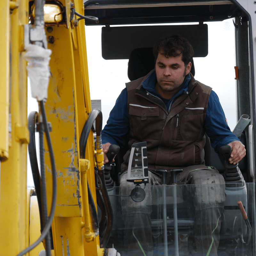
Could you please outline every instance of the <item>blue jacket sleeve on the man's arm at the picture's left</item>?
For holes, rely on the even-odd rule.
[[[109,142],[124,147],[123,136],[129,131],[129,116],[127,108],[127,89],[125,88],[116,100],[109,114],[107,124],[101,132],[102,144]]]

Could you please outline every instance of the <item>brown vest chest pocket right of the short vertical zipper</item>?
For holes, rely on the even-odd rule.
[[[182,116],[180,135],[183,140],[196,141],[203,130],[204,114]]]

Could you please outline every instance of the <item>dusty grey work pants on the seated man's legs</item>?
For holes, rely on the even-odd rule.
[[[130,195],[134,188],[133,183],[126,179],[127,173],[124,173],[120,178],[120,195]],[[189,189],[188,193],[195,206],[195,255],[217,256],[221,213],[226,197],[222,175],[216,169],[195,165],[184,168],[177,181],[178,184],[194,185],[187,186],[186,189]],[[161,185],[161,180],[149,172],[149,184],[145,187],[146,197],[142,202],[136,203],[130,197],[120,197],[128,239],[128,255],[144,255],[142,250],[147,256],[153,255],[150,221],[152,185]]]

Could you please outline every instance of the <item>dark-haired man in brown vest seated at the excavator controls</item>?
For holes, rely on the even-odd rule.
[[[230,132],[216,93],[190,74],[194,51],[187,39],[177,35],[161,38],[154,45],[154,55],[155,69],[126,84],[102,131],[104,153],[112,143],[124,146],[127,133],[130,148],[133,143],[147,142],[147,196],[141,203],[134,203],[129,197],[121,199],[128,251],[137,241],[138,255],[152,255],[150,185],[161,184],[156,170],[178,167],[183,169],[178,183],[195,185],[189,188],[195,206],[196,255],[217,256],[225,181],[215,168],[204,165],[204,133],[216,150],[227,144],[232,146],[230,163],[239,162],[245,156],[245,148]],[[126,181],[129,156],[130,150],[121,166],[120,195],[129,195],[129,186],[133,185]],[[108,162],[105,155],[104,161]],[[212,183],[212,191],[210,186],[196,186]]]

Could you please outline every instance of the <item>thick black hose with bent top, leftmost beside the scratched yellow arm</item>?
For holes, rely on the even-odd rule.
[[[28,155],[30,159],[31,171],[33,175],[34,185],[36,189],[36,197],[39,208],[41,232],[43,231],[42,219],[42,205],[41,205],[41,176],[38,169],[37,156],[36,156],[36,139],[35,139],[35,125],[38,122],[38,113],[32,111],[28,115],[28,131],[29,131],[29,144]]]

